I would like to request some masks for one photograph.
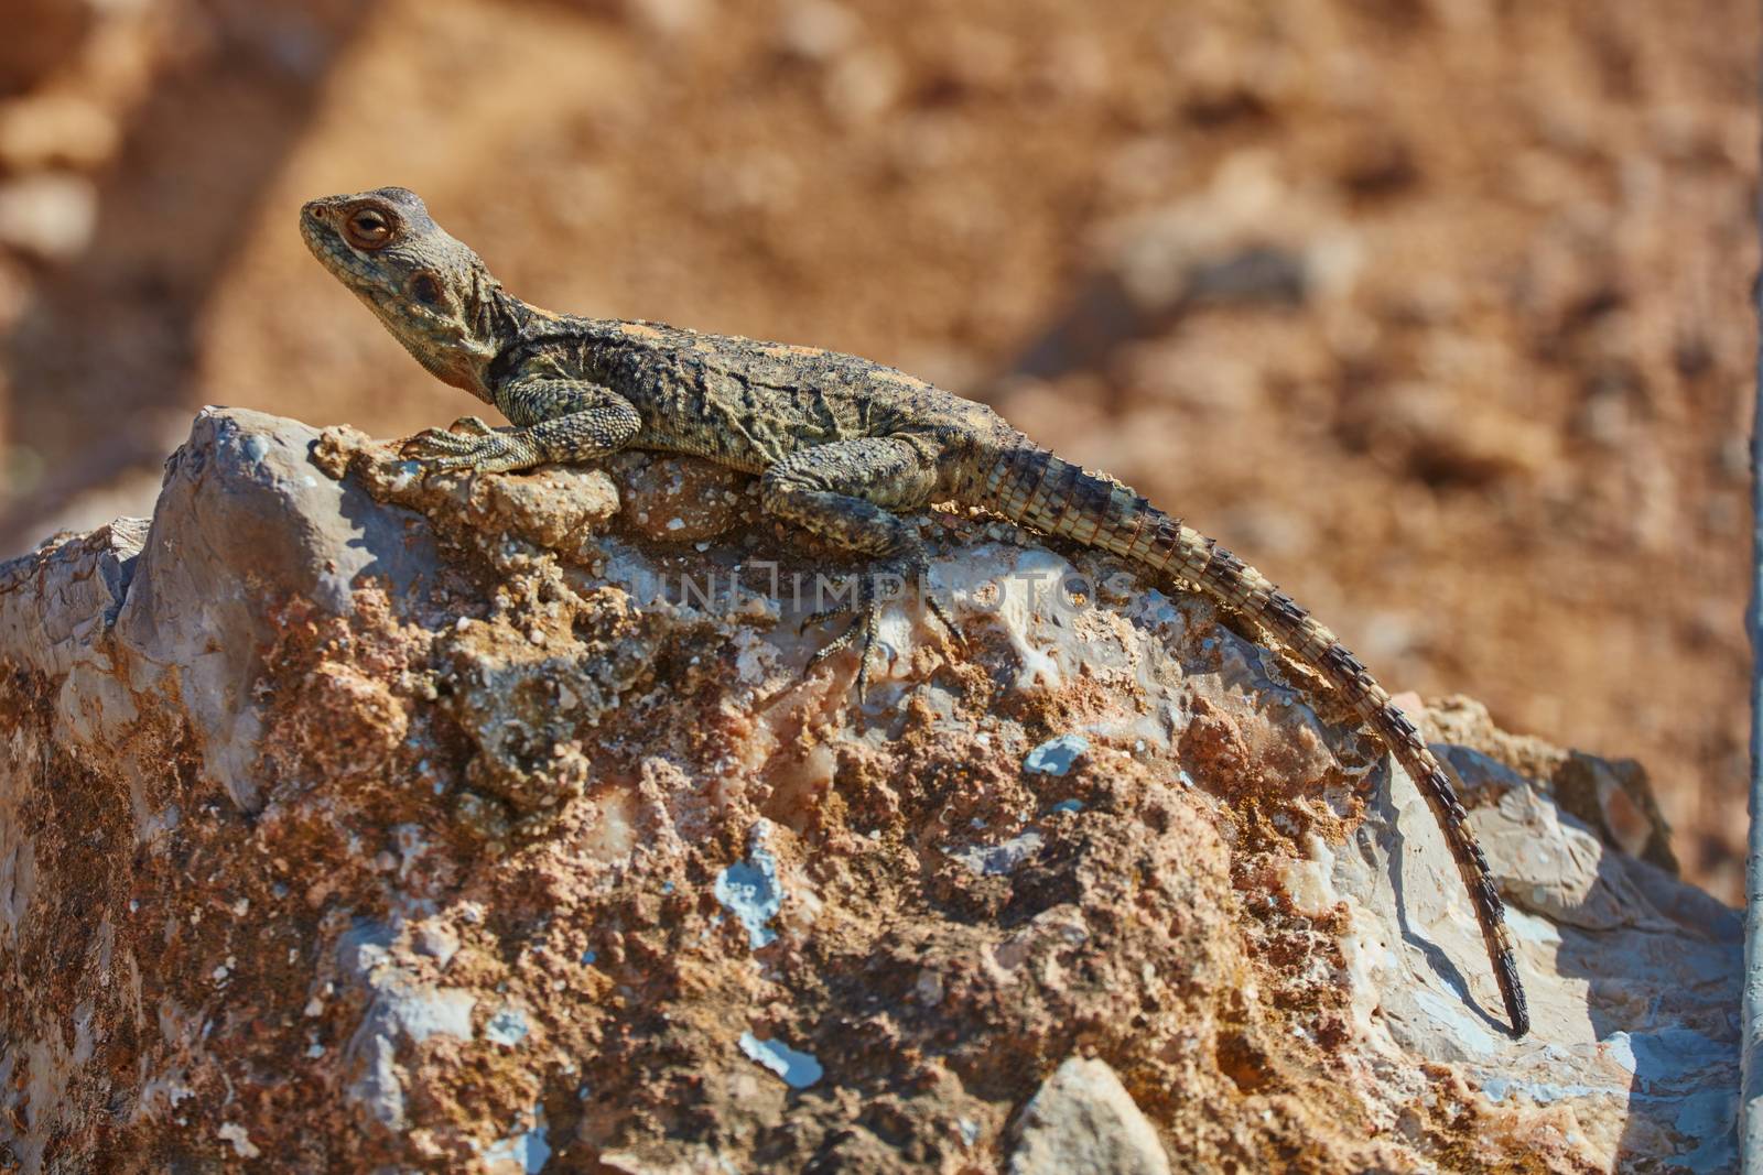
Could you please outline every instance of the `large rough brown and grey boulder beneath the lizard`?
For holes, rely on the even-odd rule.
[[[1423,802],[1301,669],[924,527],[964,647],[903,604],[859,713],[797,632],[850,564],[744,479],[423,483],[205,412],[150,525],[0,565],[5,1161],[1035,1170],[1105,1103],[1174,1171],[1730,1166],[1737,918],[1634,768],[1425,712],[1509,1041]]]

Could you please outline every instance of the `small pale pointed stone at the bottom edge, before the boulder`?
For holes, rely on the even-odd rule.
[[[1023,1106],[1010,1175],[1167,1175],[1169,1159],[1132,1094],[1100,1060],[1072,1057]]]

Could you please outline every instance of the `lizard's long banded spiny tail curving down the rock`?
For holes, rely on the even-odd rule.
[[[1305,608],[1266,576],[1218,546],[1216,539],[1208,539],[1183,527],[1179,518],[1153,509],[1112,477],[1088,472],[1026,439],[998,446],[996,460],[977,491],[977,499],[984,499],[1012,521],[1199,585],[1234,611],[1271,631],[1305,664],[1328,678],[1359,719],[1377,731],[1426,796],[1476,907],[1476,921],[1481,923],[1481,937],[1493,962],[1493,978],[1506,999],[1511,1032],[1518,1038],[1530,1031],[1530,1013],[1518,979],[1506,907],[1493,888],[1488,858],[1483,856],[1469,828],[1467,812],[1414,722],[1389,701],[1384,687],[1333,632],[1312,620]]]

